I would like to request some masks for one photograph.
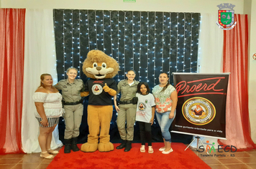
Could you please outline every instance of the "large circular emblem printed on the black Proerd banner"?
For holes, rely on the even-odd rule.
[[[214,120],[216,110],[206,98],[193,97],[184,102],[182,114],[193,125],[206,125]]]

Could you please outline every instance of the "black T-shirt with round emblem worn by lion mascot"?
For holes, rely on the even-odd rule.
[[[103,90],[105,83],[112,90],[117,90],[114,79],[88,79],[85,91],[89,92],[88,105],[112,105],[111,95]]]

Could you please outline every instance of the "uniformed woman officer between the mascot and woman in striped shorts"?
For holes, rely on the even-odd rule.
[[[79,127],[83,116],[83,101],[80,93],[84,92],[82,79],[76,79],[78,69],[70,67],[67,70],[68,79],[62,79],[55,87],[62,90],[63,106],[65,109],[65,149],[64,153],[70,153],[70,150],[78,151],[76,145],[78,142]]]

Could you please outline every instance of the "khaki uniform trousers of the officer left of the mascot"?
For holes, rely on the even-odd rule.
[[[83,116],[83,105],[64,105],[65,135],[64,139],[78,137]]]

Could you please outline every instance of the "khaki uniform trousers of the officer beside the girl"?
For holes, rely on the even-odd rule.
[[[137,105],[132,104],[119,105],[116,124],[122,140],[133,140],[136,108]],[[127,122],[127,129],[125,129],[125,122]]]

